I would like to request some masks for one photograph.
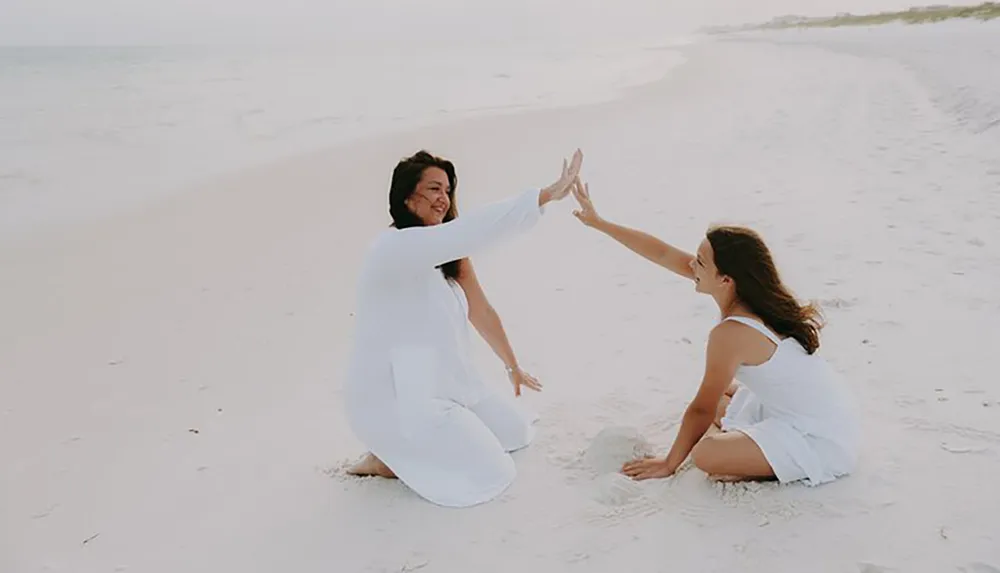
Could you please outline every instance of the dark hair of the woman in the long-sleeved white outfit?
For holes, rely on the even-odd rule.
[[[458,189],[458,176],[455,175],[455,165],[443,159],[420,150],[410,157],[405,157],[396,164],[392,171],[392,182],[389,184],[389,216],[392,217],[392,226],[397,229],[409,227],[422,227],[420,220],[410,208],[406,206],[406,200],[410,198],[417,189],[417,184],[424,176],[424,171],[431,167],[437,167],[448,175],[448,201],[450,206],[444,215],[444,222],[451,221],[458,217],[458,207],[455,204],[455,191]],[[457,280],[462,271],[462,261],[455,260],[444,263],[438,268],[449,280]]]

